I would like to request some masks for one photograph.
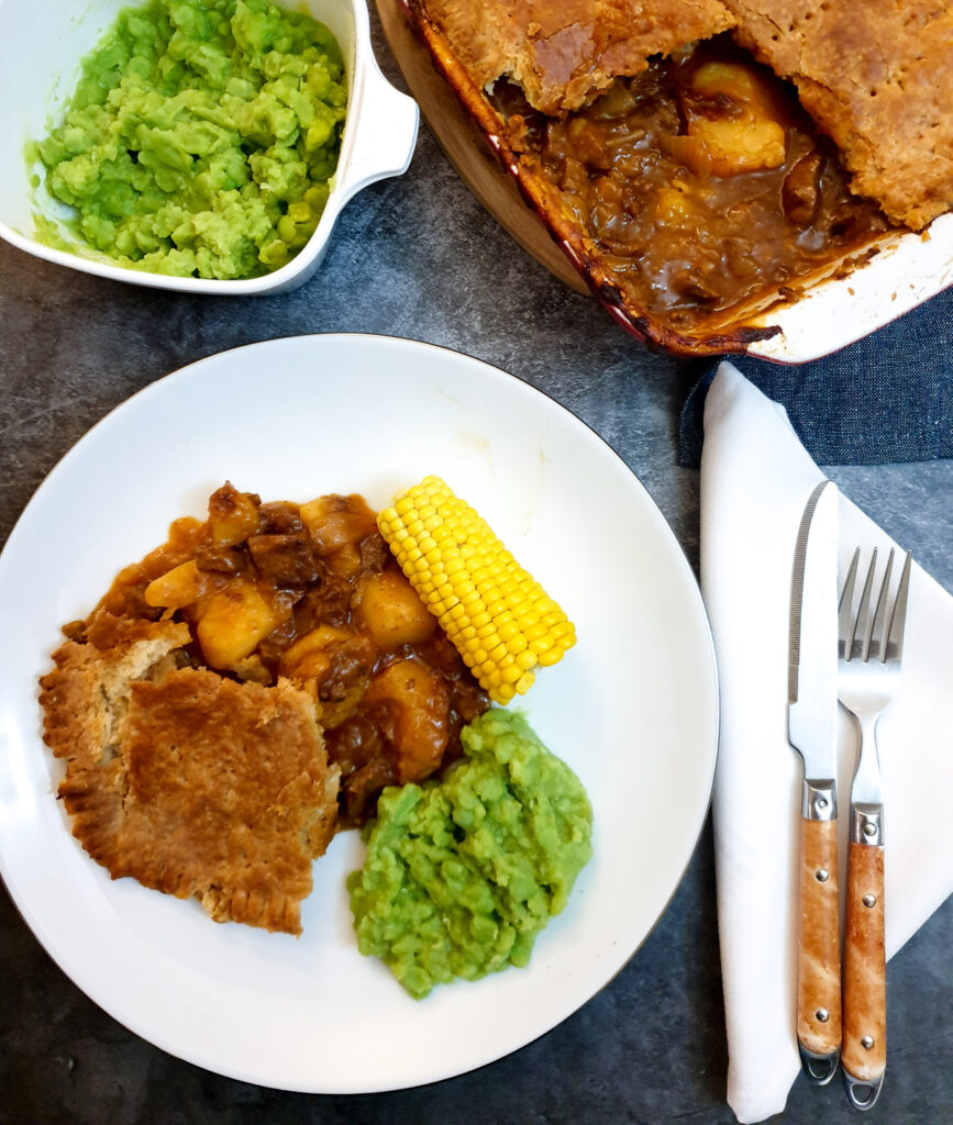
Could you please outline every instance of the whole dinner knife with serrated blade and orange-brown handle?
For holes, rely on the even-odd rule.
[[[808,497],[791,577],[788,737],[803,758],[801,788],[798,1048],[825,1086],[840,1055],[837,892],[837,488]]]

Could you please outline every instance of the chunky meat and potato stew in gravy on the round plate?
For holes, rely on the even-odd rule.
[[[341,771],[341,827],[372,814],[385,785],[458,758],[460,728],[489,705],[357,495],[262,503],[225,484],[208,520],[174,521],[64,632],[84,639],[99,611],[185,621],[195,667],[312,691]]]

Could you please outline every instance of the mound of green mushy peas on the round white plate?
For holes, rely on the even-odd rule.
[[[592,855],[592,807],[519,713],[461,731],[442,781],[384,791],[348,881],[358,946],[420,999],[456,976],[525,965]]]

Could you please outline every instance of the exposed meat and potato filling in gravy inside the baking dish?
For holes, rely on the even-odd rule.
[[[676,330],[890,230],[793,89],[727,36],[655,57],[563,118],[506,82],[493,100],[620,286]]]

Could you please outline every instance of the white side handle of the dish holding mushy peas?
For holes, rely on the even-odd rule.
[[[348,116],[356,123],[360,120],[360,128],[354,129],[341,183],[342,201],[377,180],[403,176],[414,154],[420,124],[417,104],[395,89],[372,60],[365,69]]]

